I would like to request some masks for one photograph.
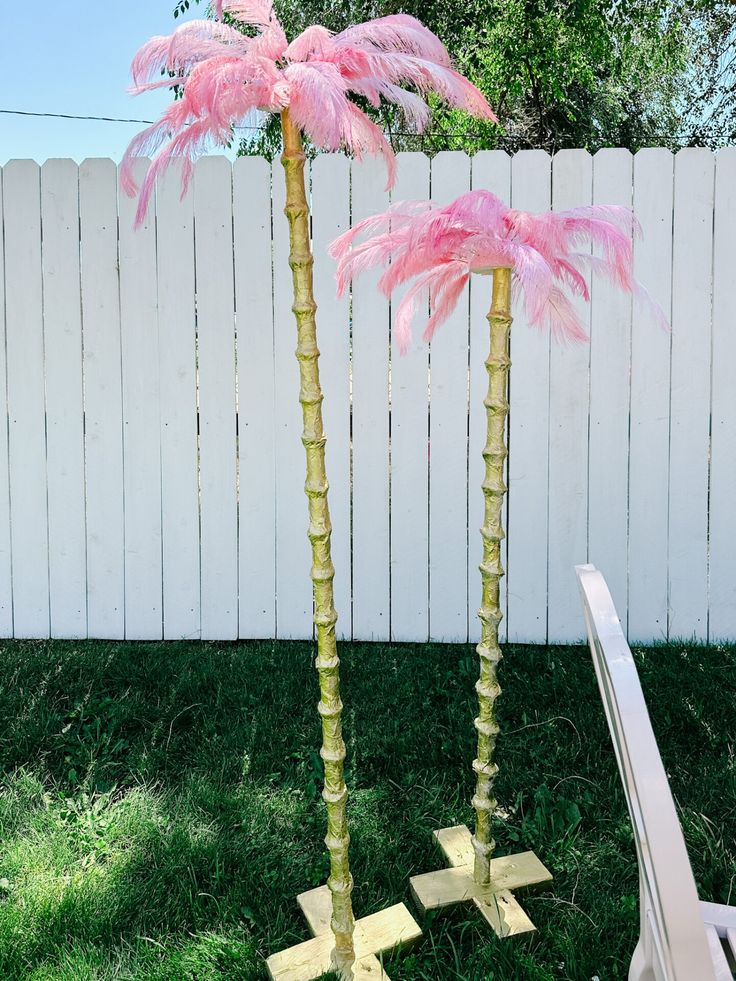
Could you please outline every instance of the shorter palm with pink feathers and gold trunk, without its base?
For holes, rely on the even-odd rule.
[[[497,667],[501,659],[498,625],[501,620],[499,584],[503,576],[501,541],[503,479],[508,416],[509,337],[512,285],[523,296],[530,324],[548,328],[553,335],[584,340],[586,334],[570,294],[589,299],[586,273],[595,271],[621,289],[647,294],[634,281],[633,236],[638,224],[628,208],[591,206],[560,213],[532,215],[508,208],[489,191],[470,191],[446,207],[428,202],[401,202],[383,214],[367,218],[330,247],[338,259],[338,292],[366,269],[385,267],[379,288],[388,296],[412,281],[396,313],[395,332],[405,351],[417,300],[429,293],[431,315],[424,339],[430,340],[456,306],[471,273],[493,275],[490,324],[489,376],[484,400],[487,440],[483,449],[485,478],[482,603],[478,612],[481,640],[477,647],[480,677],[476,684],[479,712],[477,757],[473,761],[476,811],[473,835],[474,878],[490,884],[490,862],[495,842],[491,817],[496,807],[493,783],[498,767],[493,753],[499,728],[495,702],[500,694]],[[368,236],[368,237],[366,237]],[[581,251],[593,244],[599,255]],[[664,322],[652,304],[655,316]]]

